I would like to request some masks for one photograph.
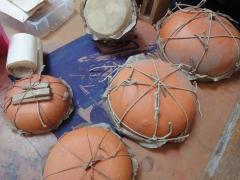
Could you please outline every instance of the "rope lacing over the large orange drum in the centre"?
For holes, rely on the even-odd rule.
[[[106,109],[109,112],[109,114],[111,115],[111,119],[113,121],[113,123],[117,126],[117,129],[120,132],[123,132],[123,134],[126,134],[128,136],[130,136],[133,139],[137,139],[139,141],[143,141],[146,143],[150,143],[150,144],[154,144],[154,143],[163,143],[165,144],[168,141],[173,141],[173,142],[181,142],[184,141],[188,136],[188,131],[189,131],[189,117],[188,117],[188,113],[186,112],[185,108],[183,107],[182,103],[179,101],[179,99],[175,96],[175,94],[172,92],[172,90],[179,90],[179,91],[185,91],[185,92],[189,92],[191,94],[194,95],[195,99],[196,99],[196,103],[199,106],[199,112],[200,112],[200,104],[198,102],[198,98],[197,98],[197,84],[195,84],[195,90],[191,90],[191,89],[187,89],[184,87],[178,87],[175,85],[171,85],[166,83],[165,81],[172,75],[174,75],[175,73],[177,73],[180,70],[180,67],[178,68],[174,68],[174,70],[172,70],[171,72],[169,72],[168,74],[166,74],[164,77],[160,78],[159,77],[159,71],[161,69],[159,69],[157,67],[157,63],[159,60],[155,60],[155,59],[151,59],[149,60],[152,62],[152,65],[154,67],[154,73],[153,74],[149,74],[144,72],[143,70],[137,68],[134,63],[126,63],[125,65],[122,65],[118,68],[116,74],[110,79],[110,83],[109,83],[109,87],[106,90],[105,94],[104,94],[104,98],[106,100]],[[119,72],[123,69],[129,69],[130,73],[128,75],[128,78],[122,82],[119,82],[117,84],[114,84],[114,78],[118,76]],[[151,80],[151,83],[145,83],[145,82],[141,82],[141,81],[137,81],[133,78],[133,75],[135,73],[140,73],[141,75],[144,75],[145,77],[147,77],[149,80]],[[114,108],[112,107],[111,104],[111,98],[110,95],[113,91],[117,91],[120,87],[127,87],[127,86],[138,86],[139,88],[141,87],[148,87],[146,89],[146,91],[142,94],[140,94],[132,103],[131,105],[129,105],[128,107],[126,107],[124,114],[119,117],[115,112],[114,112]],[[128,115],[128,113],[133,109],[133,107],[145,96],[149,95],[150,91],[154,91],[154,99],[155,99],[155,103],[154,103],[154,124],[155,124],[155,128],[154,128],[154,132],[152,134],[151,137],[146,136],[142,133],[139,133],[137,131],[135,131],[132,127],[129,127],[125,122],[124,119],[125,117]],[[169,119],[168,122],[168,133],[162,137],[158,137],[157,136],[157,132],[158,132],[158,124],[159,124],[159,116],[161,113],[161,107],[160,107],[160,102],[162,100],[161,98],[161,94],[163,96],[169,96],[171,97],[171,99],[174,101],[174,103],[178,106],[178,108],[181,110],[181,112],[184,114],[185,117],[185,129],[184,131],[179,134],[178,137],[171,137],[172,135],[172,131],[174,128],[174,124],[172,123],[172,121]],[[171,108],[171,107],[169,107]],[[200,112],[201,113],[201,112]],[[149,119],[149,121],[151,121]]]

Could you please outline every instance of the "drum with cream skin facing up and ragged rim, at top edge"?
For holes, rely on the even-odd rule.
[[[120,39],[137,23],[135,0],[85,0],[82,18],[94,40]]]

